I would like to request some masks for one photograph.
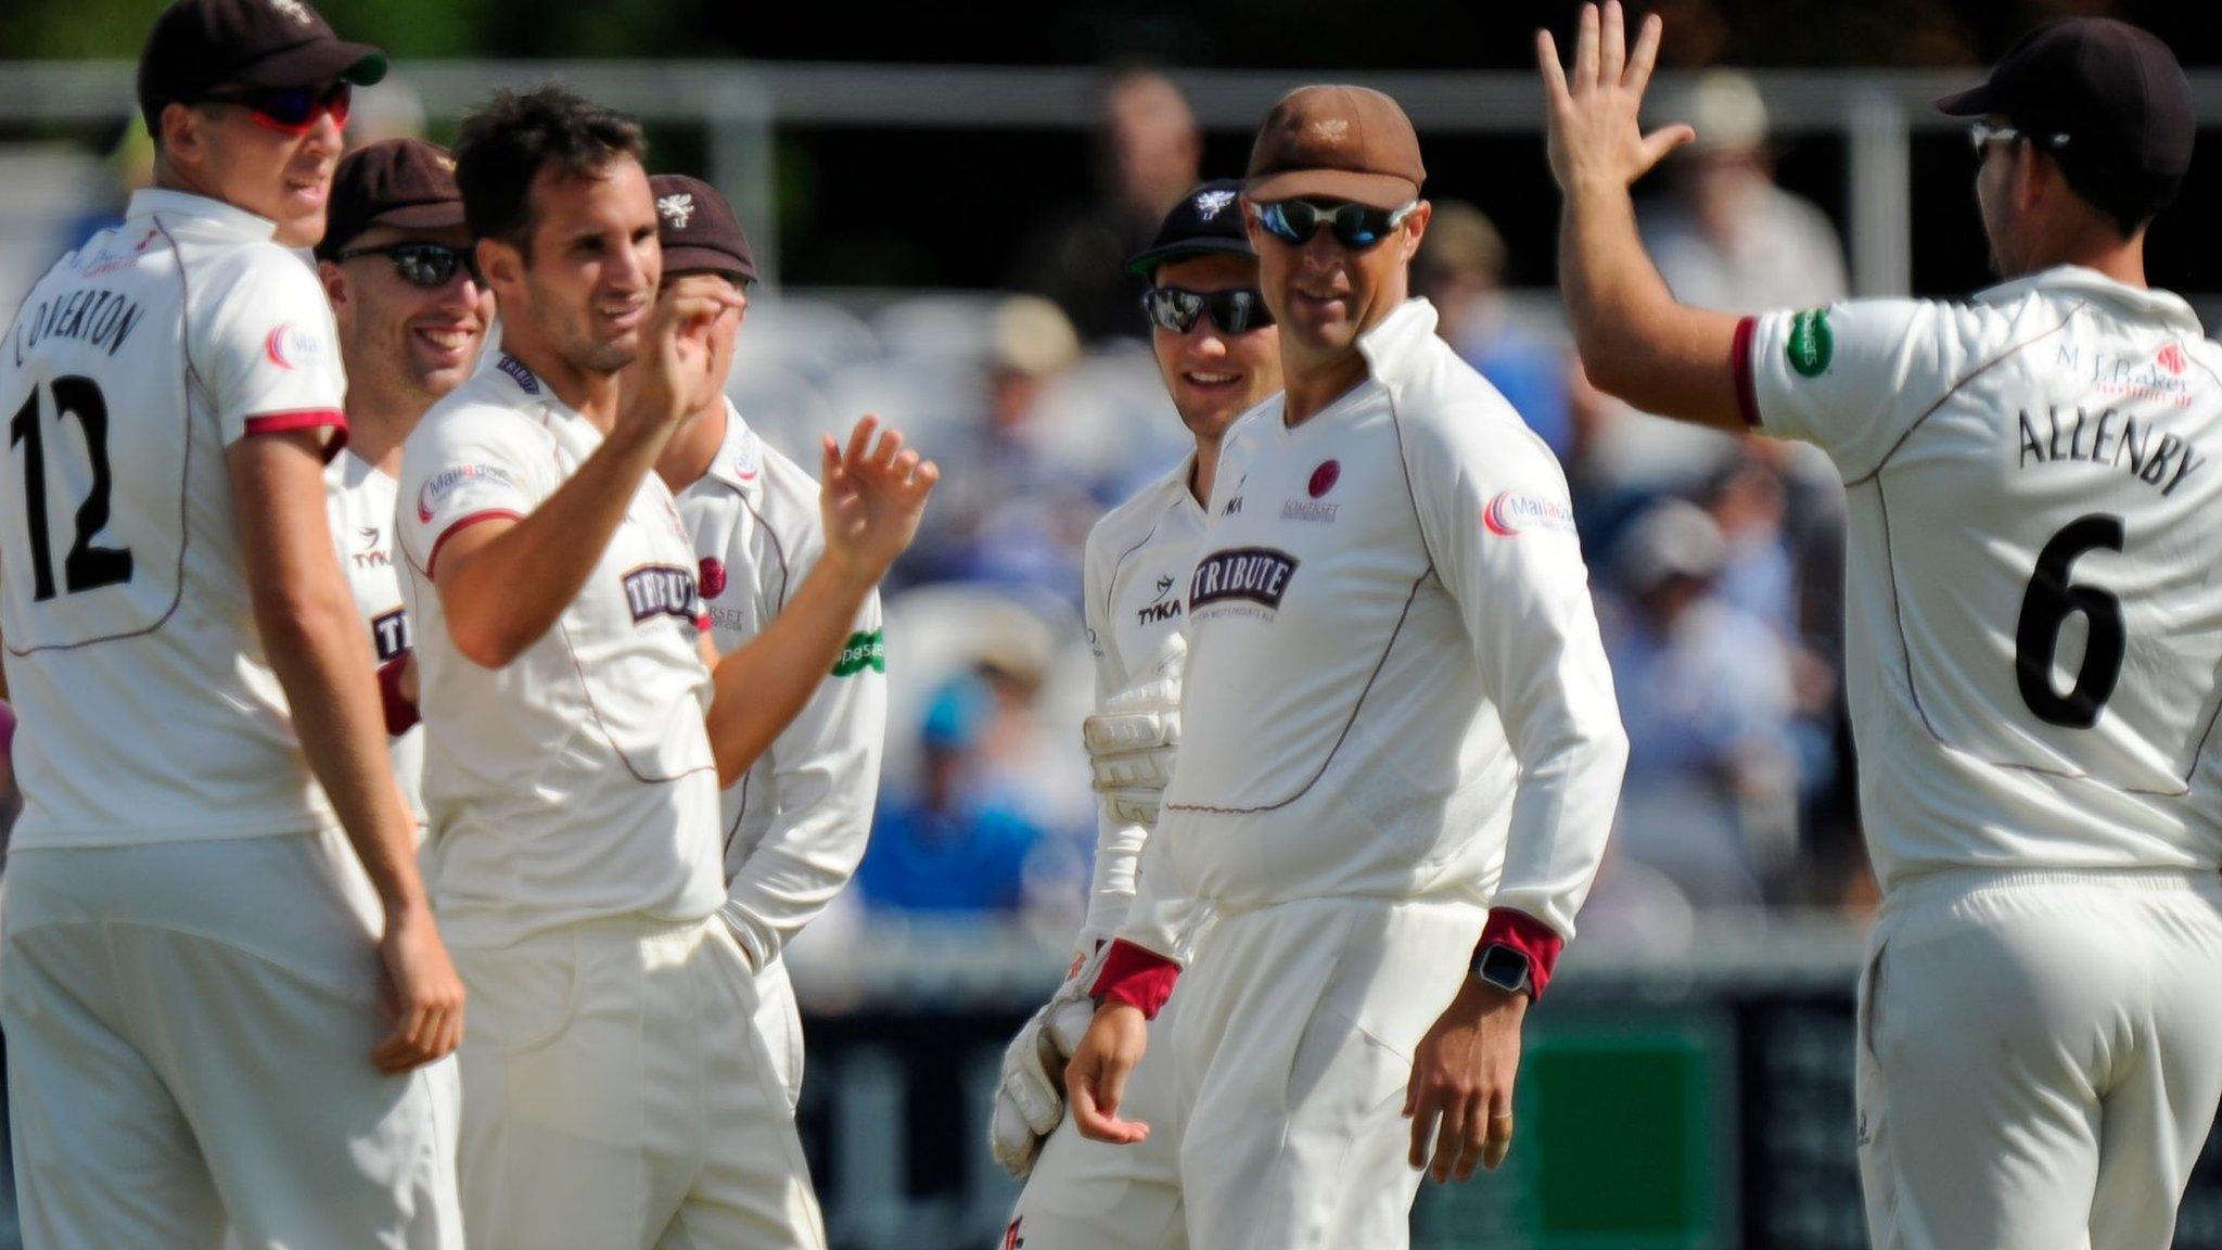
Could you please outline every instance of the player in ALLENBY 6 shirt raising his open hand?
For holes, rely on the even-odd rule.
[[[1560,285],[1644,411],[1824,449],[1851,516],[1846,672],[1882,919],[1858,1141],[1878,1250],[2162,1250],[2222,1097],[2222,349],[2151,289],[2191,165],[2182,69],[2111,20],[1989,82],[1975,200],[2004,285],[1733,318],[1675,305],[1629,185],[1689,127],[1584,7],[1538,36]]]

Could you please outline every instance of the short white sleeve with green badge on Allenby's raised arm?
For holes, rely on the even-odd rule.
[[[1942,305],[1855,300],[1735,325],[1744,423],[1813,443],[1844,480],[1875,472],[1958,374]]]

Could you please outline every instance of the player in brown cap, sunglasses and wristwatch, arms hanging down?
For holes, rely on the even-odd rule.
[[[1251,149],[1287,389],[1220,452],[1180,761],[1067,1068],[1084,1134],[1147,1139],[1127,1079],[1193,965],[1160,1039],[1187,1246],[1404,1246],[1422,1165],[1502,1157],[1620,792],[1564,476],[1407,298],[1424,178],[1362,87],[1289,93]]]

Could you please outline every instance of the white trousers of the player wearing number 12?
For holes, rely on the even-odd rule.
[[[382,916],[340,832],[18,850],[4,892],[29,1250],[462,1246],[453,1061],[371,1065]]]

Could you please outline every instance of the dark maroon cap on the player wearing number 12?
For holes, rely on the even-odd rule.
[[[140,49],[140,116],[158,136],[164,105],[191,105],[213,87],[316,87],[336,78],[369,87],[384,76],[387,53],[342,40],[302,0],[176,0]]]

